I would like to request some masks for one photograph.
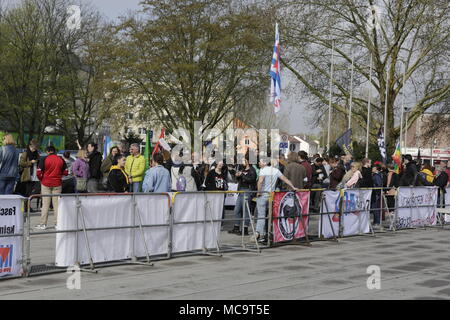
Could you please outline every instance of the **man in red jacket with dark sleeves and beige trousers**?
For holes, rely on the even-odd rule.
[[[56,155],[55,147],[49,146],[45,151],[48,156],[39,161],[37,170],[37,176],[41,181],[41,194],[61,194],[62,176],[68,175],[66,162]],[[36,229],[47,229],[50,201],[52,201],[53,204],[56,225],[56,222],[58,221],[58,197],[43,197],[41,223],[36,226]]]

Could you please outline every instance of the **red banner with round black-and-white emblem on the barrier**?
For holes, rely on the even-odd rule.
[[[273,242],[291,241],[304,238],[303,224],[308,226],[308,217],[300,214],[309,212],[309,192],[279,192],[273,199]]]

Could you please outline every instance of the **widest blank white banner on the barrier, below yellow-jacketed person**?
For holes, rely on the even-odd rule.
[[[77,221],[77,199],[62,197],[59,201],[58,230],[138,226],[140,213],[142,225],[167,224],[169,221],[169,198],[163,195],[136,195],[136,215],[133,214],[132,196],[80,196],[81,213]],[[168,227],[144,228],[149,255],[168,251]],[[142,233],[136,229],[88,231],[87,238],[94,263],[130,259],[147,255]],[[134,254],[133,254],[134,252]],[[73,266],[89,263],[84,232],[58,233],[56,236],[56,266]]]

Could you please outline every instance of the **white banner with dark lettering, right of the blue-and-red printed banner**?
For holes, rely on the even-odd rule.
[[[437,187],[399,188],[395,228],[436,225],[437,193]]]

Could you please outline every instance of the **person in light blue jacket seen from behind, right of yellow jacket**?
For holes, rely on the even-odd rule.
[[[157,153],[152,159],[152,168],[148,169],[144,183],[143,192],[164,193],[170,192],[170,172],[163,166],[164,157]]]

